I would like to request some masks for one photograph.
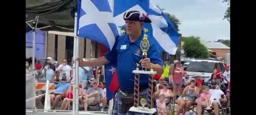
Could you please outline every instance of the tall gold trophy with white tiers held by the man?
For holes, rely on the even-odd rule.
[[[140,49],[142,51],[142,59],[147,58],[147,51],[149,49],[149,42],[148,42],[148,36],[146,35],[146,32],[148,32],[148,29],[144,28],[144,36],[143,40],[140,42]],[[143,70],[139,69],[140,64],[137,64],[136,70],[132,71],[134,73],[134,106],[132,106],[129,111],[132,112],[142,112],[142,113],[148,113],[153,114],[157,111],[156,108],[152,108],[153,105],[153,76],[157,74],[152,69],[148,71],[146,68],[143,68]],[[148,100],[142,98],[140,99],[140,104],[142,106],[139,106],[139,92],[140,92],[140,74],[147,74],[149,75],[148,78]]]

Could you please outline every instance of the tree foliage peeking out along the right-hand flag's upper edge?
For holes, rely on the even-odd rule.
[[[161,9],[158,5],[156,5],[162,12],[165,10],[165,9]],[[177,30],[177,31],[180,31],[180,29],[179,29],[179,26],[180,26],[180,20],[177,18],[177,17],[175,17],[175,15],[173,15],[173,14],[169,14],[169,13],[164,13],[164,15],[165,16],[167,16],[167,17],[169,17],[169,20],[172,22],[172,24],[174,25],[174,27],[175,27],[175,29]]]

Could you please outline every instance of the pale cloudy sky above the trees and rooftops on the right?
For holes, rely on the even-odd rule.
[[[230,23],[224,19],[228,7],[223,0],[150,0],[181,21],[183,37],[198,36],[201,41],[230,40]]]

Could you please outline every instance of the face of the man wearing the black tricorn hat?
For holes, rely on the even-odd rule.
[[[126,27],[127,35],[134,35],[134,33],[141,30],[142,26],[143,26],[143,22],[141,22],[141,21],[125,20],[125,27]]]

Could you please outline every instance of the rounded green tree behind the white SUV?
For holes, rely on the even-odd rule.
[[[200,37],[185,37],[184,52],[188,58],[208,58],[209,52],[207,47],[204,44],[200,43]]]

